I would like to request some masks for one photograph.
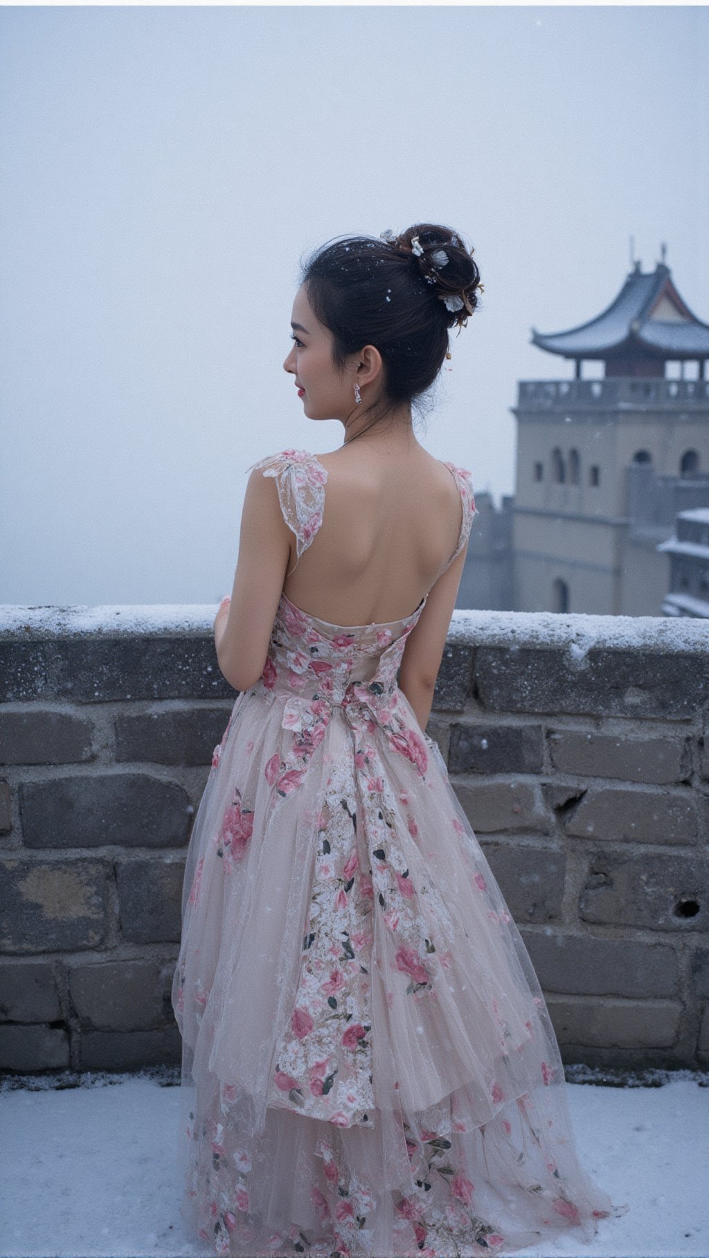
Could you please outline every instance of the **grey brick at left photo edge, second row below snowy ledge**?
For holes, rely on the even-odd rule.
[[[50,708],[0,712],[0,764],[68,765],[93,760],[85,717]]]

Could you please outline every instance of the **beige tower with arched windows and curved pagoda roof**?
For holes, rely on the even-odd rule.
[[[654,272],[636,262],[596,318],[532,328],[532,343],[571,360],[574,375],[520,380],[510,408],[518,610],[660,615],[669,562],[657,545],[678,511],[709,506],[709,325],[683,301],[664,252]],[[585,360],[603,376],[583,379]]]

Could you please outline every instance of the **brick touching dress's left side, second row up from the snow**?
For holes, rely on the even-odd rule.
[[[141,1030],[162,1023],[156,961],[101,961],[69,970],[69,995],[82,1023],[96,1030]]]

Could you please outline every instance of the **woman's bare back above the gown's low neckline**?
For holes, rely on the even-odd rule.
[[[454,476],[419,444],[361,445],[317,459],[327,472],[323,521],[297,564],[293,540],[285,596],[331,624],[411,615],[458,545]]]

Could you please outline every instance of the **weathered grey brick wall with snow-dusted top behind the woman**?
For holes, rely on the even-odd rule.
[[[177,1062],[211,608],[0,608],[0,1069]],[[429,732],[566,1062],[709,1062],[709,629],[456,611]]]

